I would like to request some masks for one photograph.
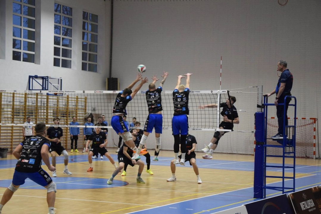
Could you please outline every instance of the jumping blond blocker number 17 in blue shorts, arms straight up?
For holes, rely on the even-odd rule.
[[[178,76],[177,85],[173,91],[174,116],[172,118],[172,134],[174,136],[174,164],[185,166],[186,154],[186,136],[188,135],[188,95],[189,95],[189,79],[191,73],[184,74],[186,76],[186,86],[180,84],[183,75]],[[182,158],[178,160],[179,143],[181,144]]]

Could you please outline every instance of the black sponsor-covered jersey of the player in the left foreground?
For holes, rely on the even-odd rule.
[[[18,172],[37,172],[41,169],[41,147],[47,144],[50,147],[50,141],[41,135],[32,136],[20,143],[22,152],[16,164],[15,170]]]

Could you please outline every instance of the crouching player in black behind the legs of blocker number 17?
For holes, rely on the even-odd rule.
[[[195,154],[195,148],[196,148],[196,139],[193,135],[187,135],[186,137],[186,156],[185,156],[185,162],[189,161],[189,165],[193,166],[194,172],[197,176],[197,183],[198,184],[202,184],[202,180],[201,177],[199,176],[198,173],[198,167],[196,165],[196,154]],[[178,156],[178,159],[181,159],[182,155]],[[172,177],[170,177],[169,179],[167,179],[167,181],[176,181],[176,177],[175,177],[175,170],[176,170],[176,166],[174,164],[175,159],[173,159],[170,162],[170,169],[172,171]]]

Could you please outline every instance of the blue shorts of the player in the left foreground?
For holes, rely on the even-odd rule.
[[[20,186],[24,184],[27,178],[29,178],[30,180],[36,182],[41,186],[47,186],[52,182],[52,179],[48,175],[48,173],[45,170],[40,169],[38,172],[31,172],[31,173],[18,172],[17,170],[14,170],[12,183],[13,185]]]

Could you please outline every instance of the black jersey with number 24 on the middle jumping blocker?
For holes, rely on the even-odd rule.
[[[161,95],[160,95],[162,90],[163,90],[162,87],[159,86],[153,91],[150,91],[150,90],[146,91],[148,113],[157,113],[163,110],[161,106]]]

